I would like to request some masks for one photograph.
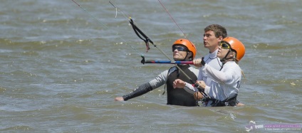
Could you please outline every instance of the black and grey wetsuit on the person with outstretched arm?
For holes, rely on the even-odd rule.
[[[193,81],[197,80],[197,75],[199,70],[189,66],[189,65],[178,65],[184,73],[186,73],[189,78]],[[187,92],[183,88],[173,88],[173,82],[176,79],[183,80],[184,82],[191,83],[190,80],[180,72],[177,67],[172,67],[170,70],[165,70],[164,72],[157,75],[157,77],[151,80],[149,83],[145,83],[137,87],[135,90],[127,95],[123,95],[124,100],[130,100],[131,98],[143,95],[151,90],[156,89],[162,85],[167,84],[167,105],[181,105],[181,106],[197,106],[196,100],[192,93]]]

